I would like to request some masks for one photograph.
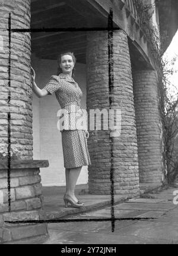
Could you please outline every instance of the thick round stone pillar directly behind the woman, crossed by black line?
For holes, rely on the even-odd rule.
[[[114,172],[115,194],[131,197],[139,194],[138,153],[131,60],[126,33],[113,33],[113,94],[109,102],[108,40],[106,31],[87,33],[87,113],[88,149],[91,166],[88,166],[89,192],[110,194],[110,170]],[[109,106],[110,105],[110,106]],[[120,109],[121,134],[90,129],[90,109]]]

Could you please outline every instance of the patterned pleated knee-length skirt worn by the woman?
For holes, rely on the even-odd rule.
[[[61,134],[64,167],[75,168],[91,165],[85,131],[63,129]]]

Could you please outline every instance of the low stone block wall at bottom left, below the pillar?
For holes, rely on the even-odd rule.
[[[40,162],[40,161],[39,161]],[[45,161],[43,162],[43,167]],[[47,161],[46,161],[47,162]],[[2,165],[2,163],[1,163]],[[45,220],[46,214],[43,211],[42,184],[40,183],[39,167],[26,167],[18,165],[11,168],[11,189],[9,209],[9,196],[7,187],[7,169],[0,165],[0,238],[3,243],[11,243],[21,239],[39,237],[47,235],[46,223],[37,224],[15,224],[5,223],[5,221],[26,221]],[[10,211],[9,211],[10,210]]]

